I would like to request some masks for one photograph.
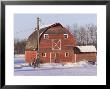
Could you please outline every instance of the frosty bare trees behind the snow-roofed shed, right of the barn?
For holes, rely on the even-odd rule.
[[[73,27],[67,27],[69,31],[74,35],[77,45],[95,45],[97,46],[97,26],[93,24],[87,24],[85,26],[79,26],[73,24]]]

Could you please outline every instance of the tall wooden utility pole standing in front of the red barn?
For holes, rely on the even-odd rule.
[[[40,21],[40,18],[37,17],[37,57],[36,57],[36,62],[34,64],[34,68],[37,66],[37,67],[40,67],[40,48],[39,48],[39,38],[40,38],[40,35],[39,35],[39,21]]]

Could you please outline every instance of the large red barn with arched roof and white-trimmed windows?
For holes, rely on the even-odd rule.
[[[27,39],[25,59],[31,63],[37,56],[38,30],[34,31]],[[41,63],[75,62],[76,40],[69,30],[60,23],[46,26],[39,30],[39,52]],[[95,53],[96,54],[96,53]],[[83,54],[85,55],[85,54]],[[96,55],[92,55],[96,58]],[[80,60],[80,58],[78,58]]]

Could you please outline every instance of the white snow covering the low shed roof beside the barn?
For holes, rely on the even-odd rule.
[[[96,48],[93,45],[89,46],[77,46],[80,49],[80,52],[96,52]]]

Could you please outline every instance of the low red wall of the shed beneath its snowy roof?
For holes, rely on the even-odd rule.
[[[96,53],[80,53],[76,54],[76,62],[83,61],[83,60],[91,60],[96,61],[97,55]]]

